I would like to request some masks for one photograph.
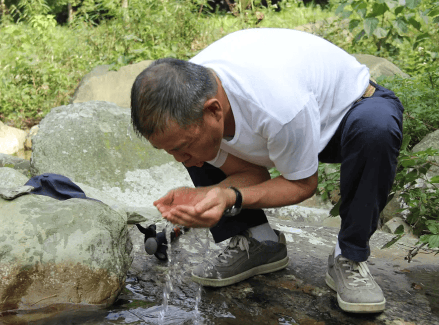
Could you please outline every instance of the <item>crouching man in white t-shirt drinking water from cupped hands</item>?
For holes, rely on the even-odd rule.
[[[307,33],[242,30],[189,61],[155,61],[134,82],[131,109],[136,132],[184,163],[196,186],[158,199],[162,216],[210,227],[216,242],[231,238],[194,281],[223,286],[285,268],[285,237],[261,208],[311,197],[318,162],[341,162],[326,282],[345,311],[384,310],[365,261],[395,175],[403,108],[365,65]],[[271,179],[273,166],[281,175]]]

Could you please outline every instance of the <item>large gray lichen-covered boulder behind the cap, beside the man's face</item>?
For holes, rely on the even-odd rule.
[[[61,174],[132,207],[154,208],[169,189],[192,185],[181,163],[131,130],[129,110],[112,103],[53,108],[33,139],[32,174]]]

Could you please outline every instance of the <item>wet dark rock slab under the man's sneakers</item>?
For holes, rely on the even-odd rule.
[[[412,245],[413,240],[407,239],[394,247],[381,250],[392,236],[384,232],[377,232],[373,236],[372,255],[368,264],[383,288],[387,300],[386,310],[380,314],[349,314],[338,307],[336,294],[325,283],[328,254],[335,244],[338,230],[274,218],[270,221],[287,238],[290,258],[288,267],[228,287],[203,287],[198,305],[196,297],[200,287],[190,280],[190,272],[215,251],[219,252],[225,244],[217,246],[205,230],[191,229],[172,244],[168,266],[143,251],[143,237],[135,227],[131,227],[135,260],[129,274],[133,281],[129,287],[133,292],[143,295],[147,301],[161,302],[169,275],[173,291],[168,304],[178,307],[177,311],[169,310],[169,317],[178,320],[169,320],[165,324],[197,324],[197,319],[198,324],[215,325],[439,324],[437,307],[429,299],[438,294],[434,292],[437,289],[429,287],[426,282],[430,279],[432,284],[438,283],[437,257],[420,254],[410,264],[407,263],[404,260],[404,247]],[[420,275],[426,276],[424,280]],[[133,295],[125,295],[125,299],[133,299]],[[197,318],[193,313],[187,314],[187,311],[194,312],[197,309]],[[140,321],[142,311],[137,312],[139,315],[136,317]],[[151,320],[145,324],[157,324],[154,314],[150,316]]]

